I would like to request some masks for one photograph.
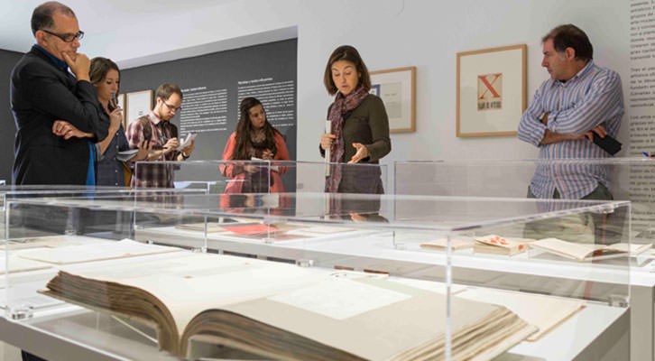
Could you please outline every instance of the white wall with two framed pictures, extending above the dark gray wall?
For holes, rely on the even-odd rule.
[[[304,161],[318,160],[318,136],[331,101],[322,75],[330,52],[341,44],[354,45],[369,69],[418,68],[417,132],[392,134],[386,163],[536,157],[535,148],[514,137],[455,136],[458,51],[527,43],[530,102],[548,76],[540,68],[541,36],[560,23],[576,23],[594,43],[596,63],[620,71],[627,88],[628,0],[121,1],[66,2],[88,32],[80,51],[130,60],[298,26],[298,157]],[[125,13],[111,15],[119,10]],[[627,130],[626,116],[623,143]]]

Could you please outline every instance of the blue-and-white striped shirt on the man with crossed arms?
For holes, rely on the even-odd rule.
[[[540,116],[550,112],[548,125]],[[616,137],[624,113],[619,74],[592,60],[567,82],[549,79],[541,84],[521,116],[519,139],[540,148],[540,160],[608,158],[609,153],[587,139],[540,145],[546,129],[558,134],[584,134],[604,125]],[[530,182],[537,198],[551,198],[555,189],[563,199],[581,199],[602,182],[610,188],[609,167],[584,162],[540,162]]]

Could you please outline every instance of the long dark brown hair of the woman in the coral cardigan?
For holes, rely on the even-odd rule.
[[[235,153],[232,155],[233,160],[250,161],[247,153],[248,146],[253,146],[250,138],[250,134],[253,132],[253,123],[250,121],[250,109],[258,105],[263,108],[262,102],[256,97],[245,97],[241,101],[241,105],[239,106],[239,123],[236,125],[236,145]],[[263,113],[266,114],[266,109],[263,110]],[[278,150],[275,146],[275,134],[279,134],[280,132],[272,127],[271,123],[268,122],[268,117],[266,117],[266,122],[263,125],[263,132],[266,134],[266,149],[276,154]]]

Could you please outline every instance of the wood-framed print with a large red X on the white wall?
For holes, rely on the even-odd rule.
[[[526,45],[457,53],[457,136],[514,135],[526,106]]]

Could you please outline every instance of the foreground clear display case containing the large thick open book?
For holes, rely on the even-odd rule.
[[[13,199],[10,224],[25,209],[88,214],[74,234],[5,244],[3,327],[33,337],[5,341],[64,358],[623,359],[630,208],[313,192]],[[134,238],[95,232],[94,214],[125,211]],[[576,254],[586,244],[567,235],[594,233],[598,215],[614,218],[614,249],[583,259],[553,245],[475,249],[557,226],[550,238]],[[525,274],[503,277],[514,267]],[[33,340],[51,338],[61,348]]]

